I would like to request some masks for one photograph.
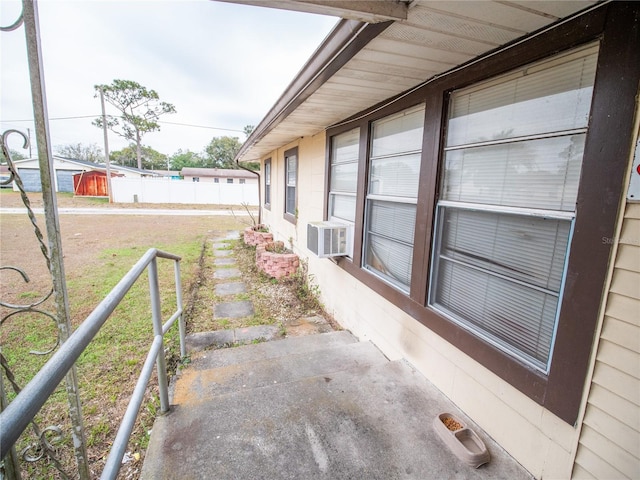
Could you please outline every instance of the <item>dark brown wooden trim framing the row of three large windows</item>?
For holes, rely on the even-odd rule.
[[[623,193],[624,175],[631,154],[633,119],[640,80],[640,6],[633,2],[613,2],[588,14],[561,23],[549,31],[514,45],[507,51],[470,64],[437,79],[397,102],[357,115],[358,120],[327,131],[330,139],[340,131],[361,126],[368,132],[372,120],[427,101],[423,143],[421,188],[414,245],[414,271],[410,297],[385,284],[359,267],[356,261],[338,264],[403,311],[486,366],[537,403],[574,424],[589,366],[593,337],[605,287],[611,238]],[[442,144],[442,119],[448,92],[486,78],[569,50],[580,44],[600,40],[598,71],[594,86],[591,124],[585,145],[584,164],[577,201],[577,217],[569,269],[561,305],[551,371],[545,376],[491,347],[445,319],[426,304],[430,263],[433,212],[437,202],[437,181]],[[364,127],[363,127],[364,125]],[[362,137],[361,137],[362,138]],[[362,140],[367,142],[366,138]],[[358,183],[358,224],[362,226],[366,158],[361,159]],[[364,163],[364,165],[363,165]],[[593,195],[592,192],[599,192]],[[581,212],[584,212],[581,214]],[[356,227],[356,230],[358,228]],[[356,232],[355,251],[361,250],[362,231]],[[359,248],[358,248],[359,247]],[[354,252],[355,253],[355,252]],[[585,274],[588,272],[588,274]],[[577,300],[576,300],[577,299]]]

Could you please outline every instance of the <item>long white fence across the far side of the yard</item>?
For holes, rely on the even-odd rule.
[[[111,179],[116,203],[203,203],[258,205],[258,185],[187,182],[168,178]]]

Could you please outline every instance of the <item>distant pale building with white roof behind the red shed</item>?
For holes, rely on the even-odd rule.
[[[40,165],[37,158],[27,160],[17,160],[13,162],[18,175],[24,184],[27,192],[39,192],[42,190],[40,181]],[[104,164],[87,162],[85,160],[75,160],[70,158],[53,156],[53,169],[55,171],[54,182],[56,192],[74,192],[73,177],[83,172],[106,172]],[[122,175],[129,178],[155,177],[158,174],[149,170],[140,170],[133,167],[123,167],[121,165],[110,165],[112,175]],[[14,185],[14,190],[17,186]]]

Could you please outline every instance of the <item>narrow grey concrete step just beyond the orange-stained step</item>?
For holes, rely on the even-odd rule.
[[[209,350],[192,358],[189,369],[206,370],[227,365],[250,363],[268,358],[313,352],[323,348],[356,343],[358,339],[346,330],[285,338],[241,347]]]

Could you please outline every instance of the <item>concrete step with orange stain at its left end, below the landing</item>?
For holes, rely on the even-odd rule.
[[[307,377],[324,376],[330,381],[335,372],[387,362],[372,343],[358,342],[216,368],[203,369],[200,365],[182,372],[174,388],[172,403],[194,405],[220,395],[282,385]]]

